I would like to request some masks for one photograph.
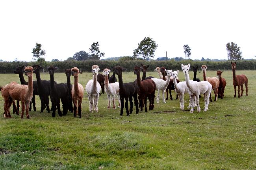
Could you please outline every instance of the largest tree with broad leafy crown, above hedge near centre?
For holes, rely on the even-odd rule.
[[[149,58],[154,57],[154,52],[156,51],[157,44],[152,38],[145,37],[140,43],[138,43],[137,49],[134,49],[134,57],[136,58]]]

